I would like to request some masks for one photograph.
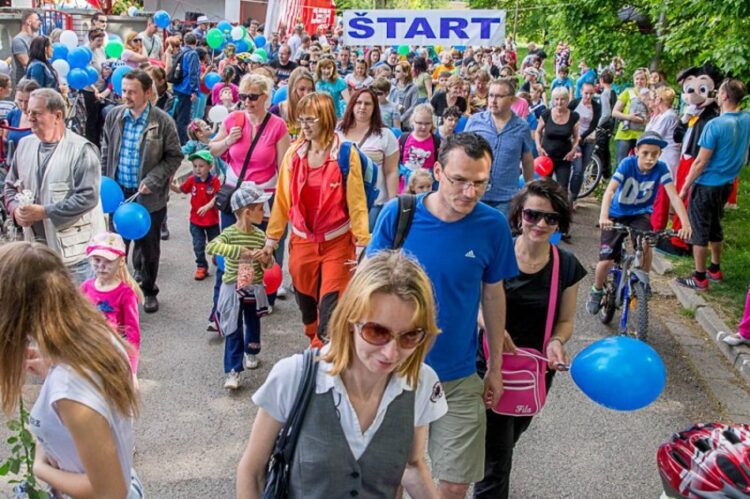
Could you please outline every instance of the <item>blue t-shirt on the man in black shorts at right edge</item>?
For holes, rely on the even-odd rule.
[[[747,163],[750,113],[724,113],[712,119],[703,129],[698,145],[711,149],[713,154],[695,183],[719,186],[734,182]]]

